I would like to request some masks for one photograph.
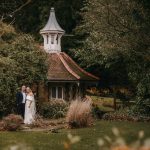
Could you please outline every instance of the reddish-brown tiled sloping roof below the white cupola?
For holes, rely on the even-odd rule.
[[[97,82],[98,77],[80,68],[66,53],[48,54],[49,69],[47,78],[49,81],[90,81]]]

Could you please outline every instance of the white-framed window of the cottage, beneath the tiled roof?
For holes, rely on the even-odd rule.
[[[62,87],[52,87],[51,88],[51,98],[52,99],[63,99],[63,88]]]

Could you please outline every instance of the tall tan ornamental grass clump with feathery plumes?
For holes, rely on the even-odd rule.
[[[71,128],[87,127],[92,124],[91,102],[72,101],[67,112],[66,121]]]

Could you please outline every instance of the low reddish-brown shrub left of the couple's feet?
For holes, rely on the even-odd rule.
[[[20,129],[23,119],[19,115],[10,114],[3,118],[4,130],[16,131]]]

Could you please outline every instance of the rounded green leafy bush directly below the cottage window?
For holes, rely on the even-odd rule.
[[[65,117],[68,104],[64,100],[51,100],[42,104],[40,114],[45,118]]]

